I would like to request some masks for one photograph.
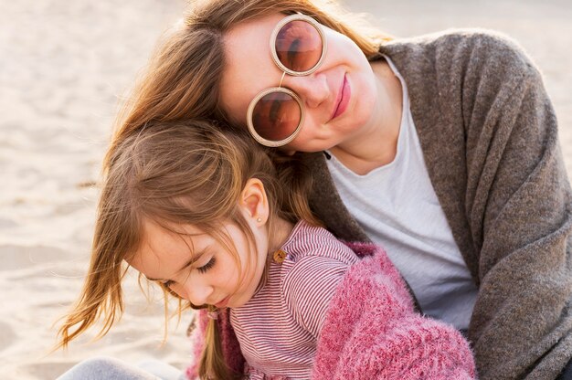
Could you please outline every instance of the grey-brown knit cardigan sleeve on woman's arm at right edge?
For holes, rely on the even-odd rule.
[[[556,115],[524,53],[480,38],[462,92],[480,282],[469,336],[482,379],[552,379],[572,356],[571,197]]]

